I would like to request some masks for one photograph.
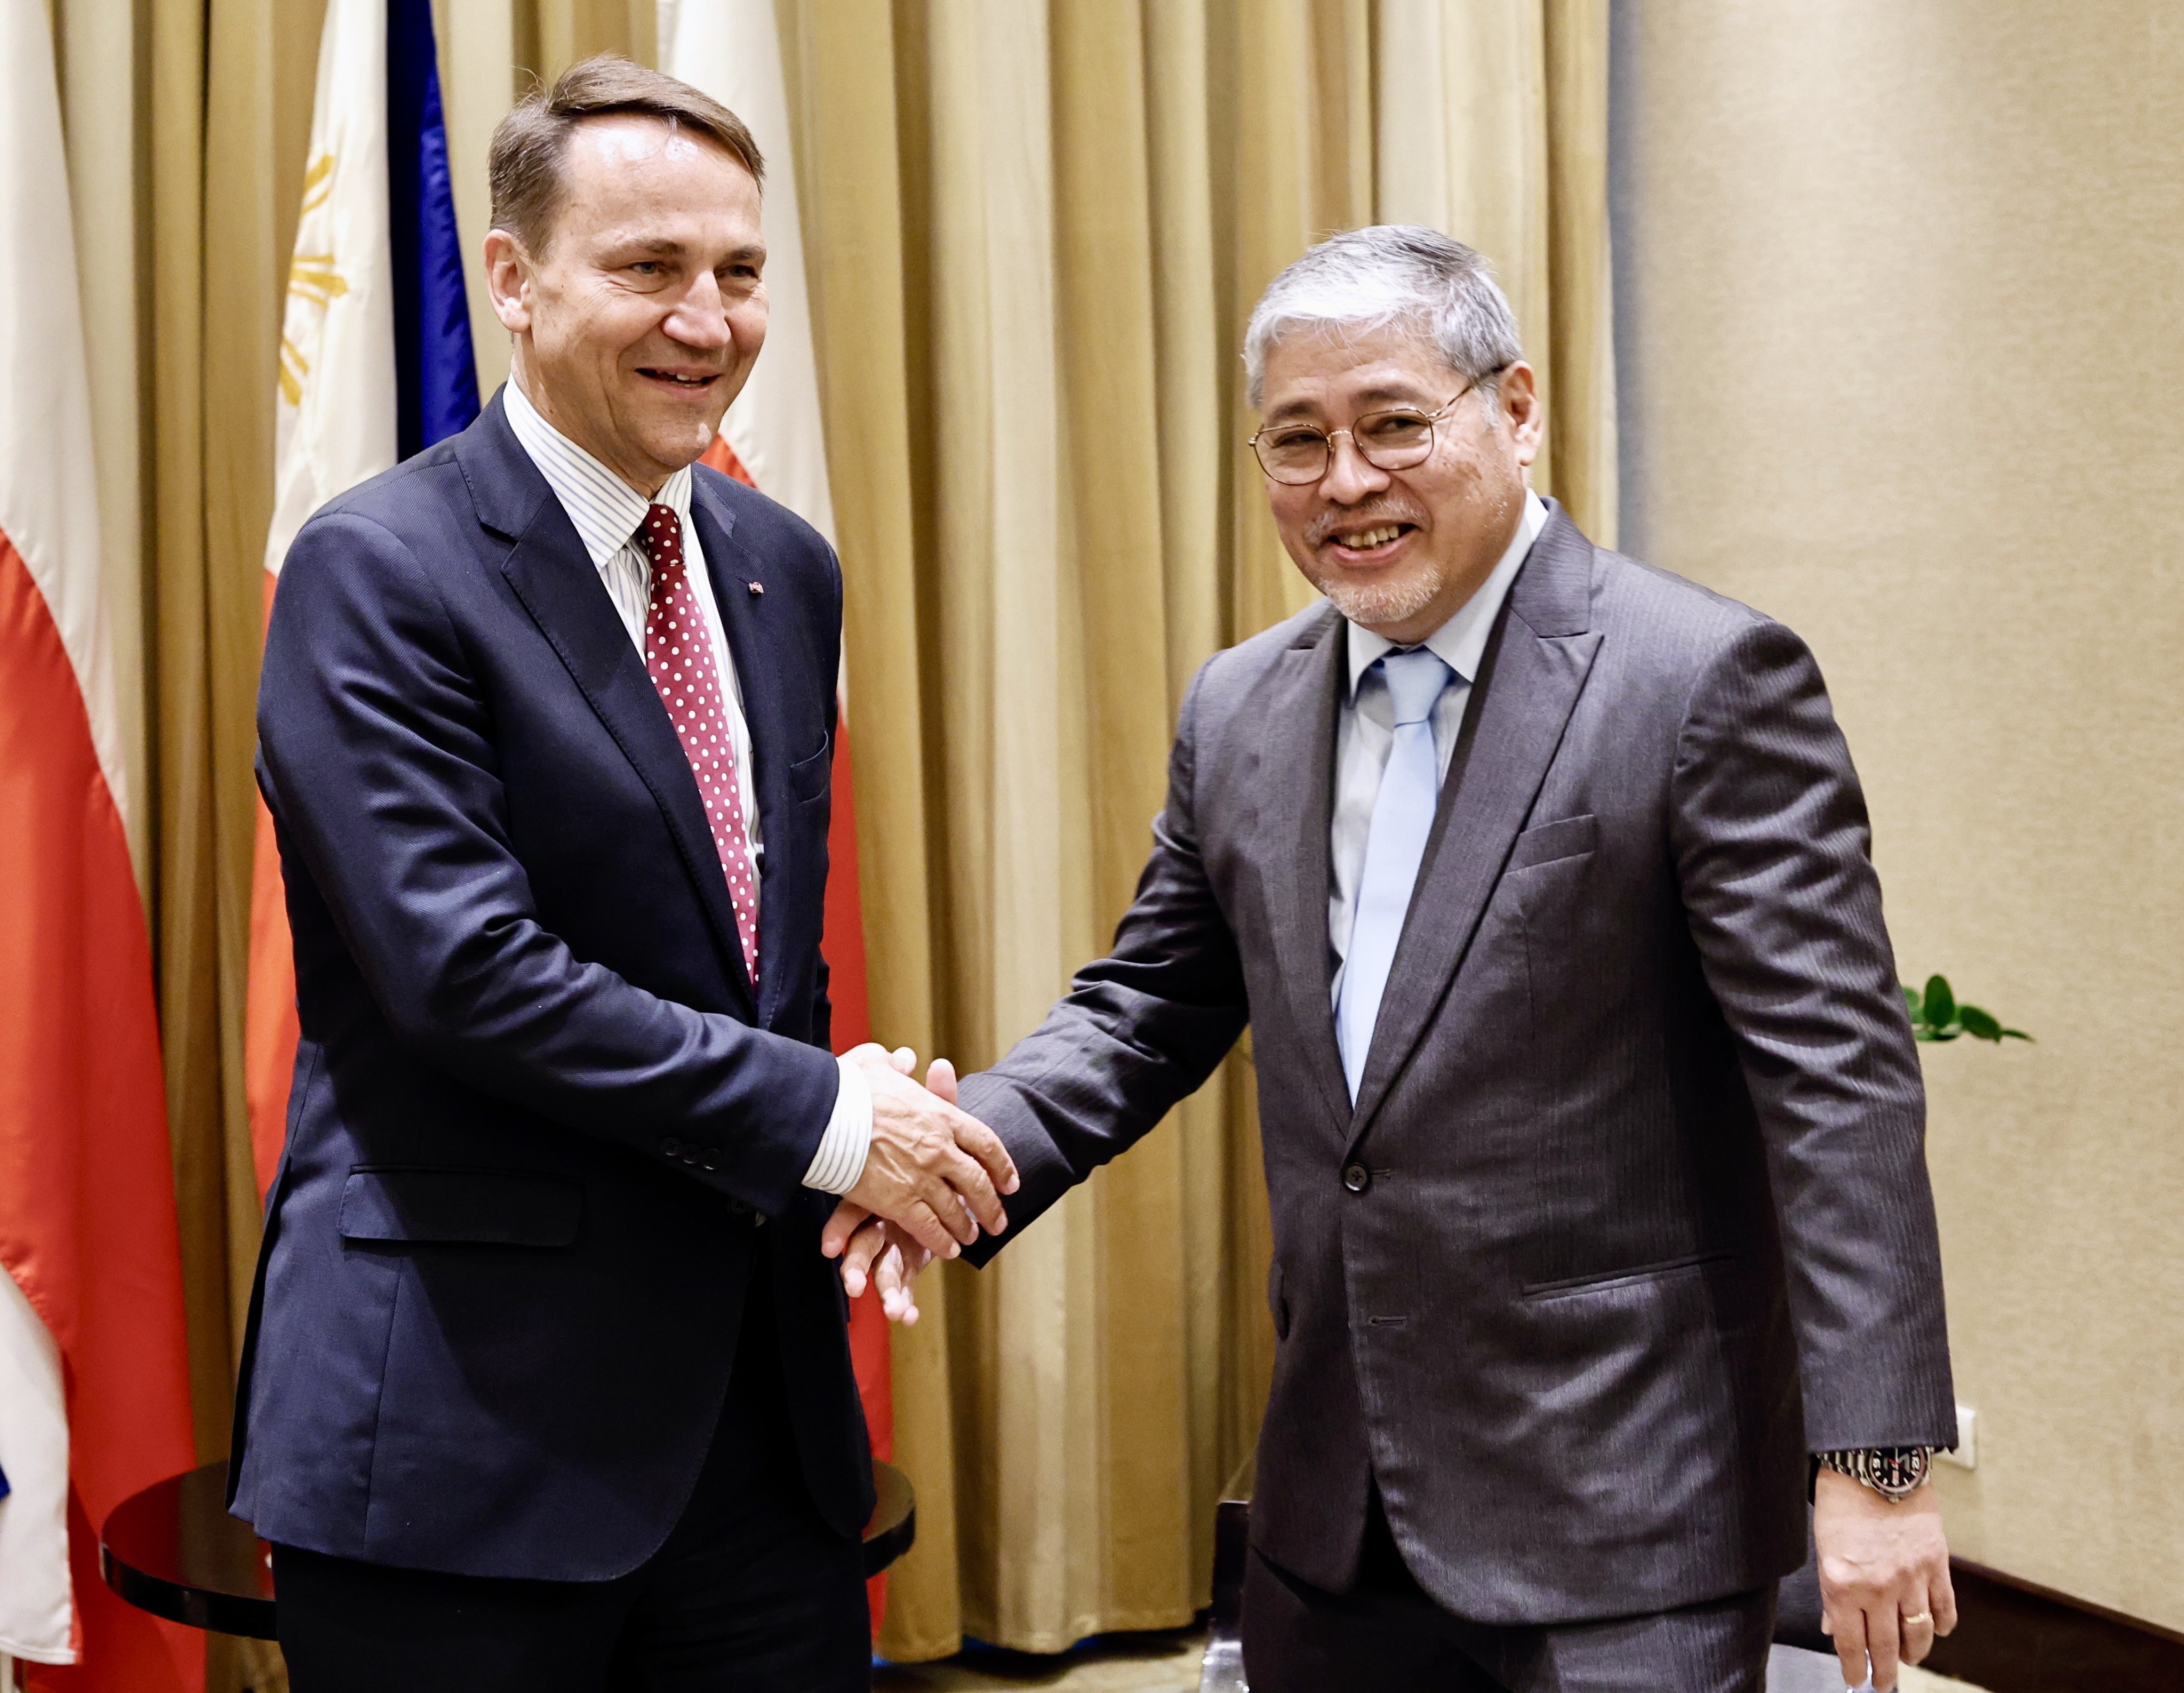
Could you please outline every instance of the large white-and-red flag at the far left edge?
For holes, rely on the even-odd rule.
[[[197,1453],[70,229],[48,9],[0,7],[0,1656],[199,1693],[203,1641],[98,1577]]]

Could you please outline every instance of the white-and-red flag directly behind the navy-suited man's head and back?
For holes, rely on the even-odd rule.
[[[660,68],[703,90],[751,127],[767,159],[767,350],[703,463],[762,489],[834,542],[834,496],[826,476],[819,417],[819,358],[810,291],[804,286],[804,229],[797,218],[797,168],[788,133],[788,79],[773,0],[660,0]],[[850,789],[850,688],[841,679],[834,738],[834,813],[828,826],[826,961],[834,1005],[834,1051],[871,1040],[865,996],[865,909],[856,887],[856,806]],[[880,1300],[850,1306],[850,1352],[865,1398],[871,1455],[893,1453],[895,1409]],[[880,1632],[887,1577],[871,1579],[871,1632]]]

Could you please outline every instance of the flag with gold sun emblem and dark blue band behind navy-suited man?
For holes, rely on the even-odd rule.
[[[430,0],[330,0],[273,404],[264,609],[312,511],[478,415]],[[242,1090],[264,1197],[288,1138],[295,950],[258,802]]]

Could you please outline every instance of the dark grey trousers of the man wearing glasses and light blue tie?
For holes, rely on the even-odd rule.
[[[1356,1588],[1328,1593],[1251,1553],[1251,1693],[1762,1693],[1773,1588],[1651,1617],[1559,1627],[1468,1623],[1417,1586],[1380,1494]]]

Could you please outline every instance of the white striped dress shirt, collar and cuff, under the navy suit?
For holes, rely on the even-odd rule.
[[[697,596],[699,616],[705,623],[705,640],[712,647],[712,664],[721,675],[721,699],[727,706],[727,732],[736,747],[736,782],[743,789],[743,832],[751,854],[751,869],[764,863],[764,837],[758,817],[758,789],[751,782],[751,725],[743,717],[743,682],[736,677],[736,660],[727,651],[727,629],[721,623],[721,607],[712,599],[712,572],[705,568],[705,550],[699,546],[697,529],[690,524],[690,467],[684,465],[657,496],[646,500],[629,483],[607,470],[598,459],[570,441],[548,424],[531,398],[513,378],[502,389],[502,406],[509,428],[531,463],[539,467],[546,485],[561,500],[577,540],[583,542],[598,581],[614,601],[616,616],[629,631],[629,642],[644,658],[644,612],[653,596],[653,559],[638,542],[638,529],[653,505],[664,505],[681,520],[684,559],[690,561],[690,592]],[[1380,754],[1387,758],[1387,754]],[[753,876],[753,902],[758,898]],[[865,1173],[865,1151],[871,1147],[871,1084],[847,1057],[841,1066],[841,1090],[834,1094],[834,1112],[819,1151],[804,1173],[804,1186],[823,1193],[847,1193]]]

